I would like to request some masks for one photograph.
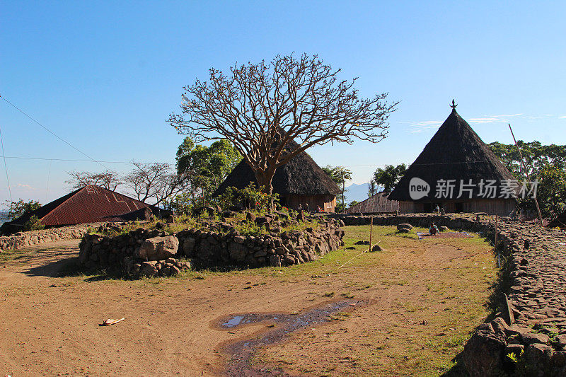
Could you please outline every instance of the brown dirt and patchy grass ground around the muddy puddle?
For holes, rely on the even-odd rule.
[[[368,234],[369,226],[347,227],[346,246]],[[307,376],[460,375],[456,356],[487,315],[495,280],[489,245],[478,236],[425,242],[388,227],[374,227],[374,240],[385,250],[139,281],[70,273],[79,240],[2,253],[0,375],[218,376],[227,345],[273,327],[226,330],[219,321],[346,298],[369,304],[260,349],[253,363]]]

